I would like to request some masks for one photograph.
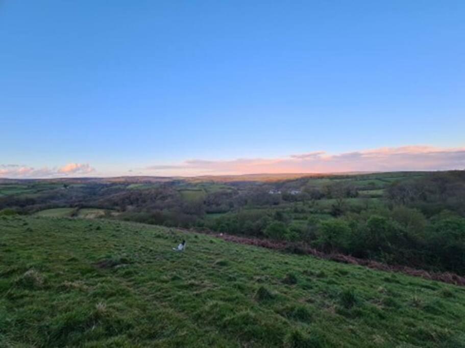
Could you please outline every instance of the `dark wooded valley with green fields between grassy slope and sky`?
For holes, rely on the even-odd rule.
[[[464,171],[0,184],[1,215],[57,208],[70,208],[69,217],[93,208],[101,218],[286,240],[328,253],[465,274]]]

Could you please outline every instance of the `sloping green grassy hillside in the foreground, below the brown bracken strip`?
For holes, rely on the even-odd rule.
[[[453,285],[163,227],[0,217],[0,346],[464,347],[463,317]]]

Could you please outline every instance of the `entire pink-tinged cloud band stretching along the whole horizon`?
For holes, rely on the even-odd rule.
[[[276,173],[341,173],[429,171],[465,169],[465,147],[401,146],[330,154],[313,151],[279,158],[236,158],[231,160],[188,159],[178,164],[152,165],[134,170],[121,168],[115,175],[239,175]],[[67,176],[110,176],[89,164],[69,163],[63,167],[33,168],[0,164],[0,178],[56,178]]]

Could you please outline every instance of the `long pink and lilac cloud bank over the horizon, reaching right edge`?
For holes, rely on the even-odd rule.
[[[353,171],[465,169],[465,148],[402,146],[330,154],[326,151],[281,158],[190,159],[145,168],[157,175],[334,173]]]

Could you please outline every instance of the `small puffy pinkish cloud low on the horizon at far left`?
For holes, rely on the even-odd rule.
[[[33,168],[16,164],[0,165],[0,177],[4,178],[53,178],[67,175],[86,175],[95,169],[88,164],[69,163],[63,167]]]

